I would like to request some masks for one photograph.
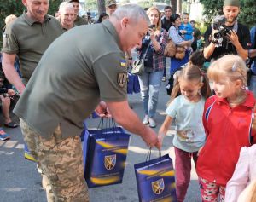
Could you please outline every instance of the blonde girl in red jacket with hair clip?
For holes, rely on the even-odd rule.
[[[202,201],[224,201],[241,147],[256,142],[253,93],[246,90],[247,68],[241,57],[225,55],[214,61],[207,76],[214,96],[207,99],[203,124],[207,141],[200,150],[197,174]]]

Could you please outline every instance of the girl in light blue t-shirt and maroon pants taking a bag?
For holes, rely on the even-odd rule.
[[[181,95],[178,95],[180,93]],[[178,95],[178,96],[177,96]],[[175,149],[177,201],[183,201],[190,182],[191,158],[196,164],[197,152],[205,143],[206,136],[202,124],[204,104],[211,95],[207,77],[198,66],[188,65],[179,72],[172,89],[171,103],[166,109],[166,120],[159,130],[159,143],[175,120]]]

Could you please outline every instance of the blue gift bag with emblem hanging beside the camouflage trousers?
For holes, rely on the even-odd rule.
[[[101,122],[103,123],[102,118]],[[84,136],[84,176],[89,188],[121,183],[130,135],[121,127],[98,127]]]

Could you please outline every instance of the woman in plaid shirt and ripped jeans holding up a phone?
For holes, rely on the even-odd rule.
[[[146,49],[148,51],[144,62],[145,72],[138,78],[145,113],[143,124],[149,124],[151,128],[154,128],[156,127],[154,115],[164,72],[164,50],[168,36],[166,30],[161,28],[159,9],[151,7],[147,10],[147,14],[151,26],[148,28],[148,35],[143,38],[140,54],[145,54]]]

